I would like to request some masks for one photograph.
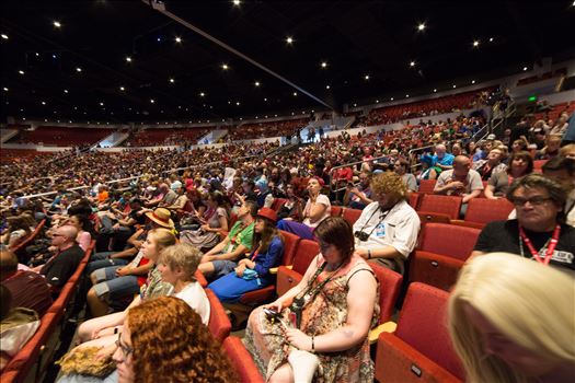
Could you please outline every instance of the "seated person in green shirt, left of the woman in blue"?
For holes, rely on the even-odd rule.
[[[198,268],[204,276],[220,278],[238,267],[237,260],[252,249],[255,214],[257,202],[243,202],[238,210],[238,222],[231,228],[228,236],[202,257]]]

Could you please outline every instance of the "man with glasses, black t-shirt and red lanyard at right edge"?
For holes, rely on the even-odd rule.
[[[471,256],[506,252],[575,270],[575,228],[564,223],[565,188],[541,174],[529,174],[513,183],[507,199],[515,205],[517,219],[483,228]]]

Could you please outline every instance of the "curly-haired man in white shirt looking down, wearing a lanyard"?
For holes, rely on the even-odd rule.
[[[375,202],[354,223],[356,254],[400,274],[417,243],[419,217],[407,204],[401,176],[381,173],[371,179]]]

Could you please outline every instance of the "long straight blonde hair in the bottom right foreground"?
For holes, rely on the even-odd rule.
[[[483,350],[464,306],[540,359],[575,363],[574,280],[550,266],[506,253],[473,258],[449,298],[449,332],[469,382],[527,382],[528,376]]]

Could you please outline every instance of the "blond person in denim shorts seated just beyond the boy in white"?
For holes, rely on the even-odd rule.
[[[160,252],[174,243],[175,236],[168,229],[153,229],[146,236],[139,256],[131,264],[125,267],[105,267],[92,272],[90,278],[94,286],[88,291],[88,305],[92,315],[105,315],[108,313],[111,303],[133,297],[138,292],[158,295],[171,289],[170,286],[160,283],[161,276],[156,263]],[[138,280],[138,276],[141,276],[142,272],[148,275],[145,283]],[[148,293],[147,290],[150,292]]]

